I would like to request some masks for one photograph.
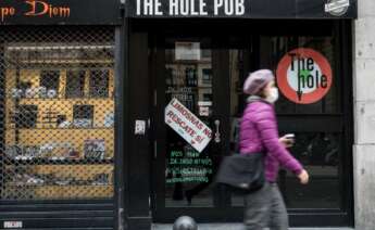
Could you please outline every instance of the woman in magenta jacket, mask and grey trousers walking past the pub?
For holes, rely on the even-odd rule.
[[[243,222],[247,230],[288,229],[288,214],[276,179],[279,165],[293,173],[301,183],[309,182],[309,174],[288,152],[292,139],[278,137],[274,103],[278,99],[275,77],[268,69],[257,71],[246,79],[243,92],[248,105],[240,125],[240,153],[265,153],[265,179],[262,189],[245,197]]]

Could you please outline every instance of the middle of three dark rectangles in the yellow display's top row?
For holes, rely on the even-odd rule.
[[[65,98],[84,97],[85,74],[85,71],[68,71],[66,73]]]

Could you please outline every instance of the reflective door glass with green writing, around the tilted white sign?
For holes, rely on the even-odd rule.
[[[177,99],[205,125],[213,127],[209,42],[176,42],[172,39],[167,40],[167,47],[165,102]],[[193,49],[187,49],[189,47]],[[209,144],[199,153],[176,131],[165,126],[165,206],[212,206],[211,182],[215,170],[212,148]]]

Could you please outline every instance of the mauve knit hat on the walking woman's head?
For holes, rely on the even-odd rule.
[[[274,79],[275,77],[270,69],[260,69],[253,72],[245,80],[243,92],[246,94],[254,95]]]

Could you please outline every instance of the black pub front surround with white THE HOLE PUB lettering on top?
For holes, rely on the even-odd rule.
[[[193,3],[192,3],[193,2]],[[225,3],[227,2],[227,3]],[[232,3],[229,3],[232,2]],[[233,10],[225,9],[225,4],[235,5]],[[337,5],[335,5],[337,3]],[[340,5],[340,3],[349,3]],[[171,4],[173,4],[171,7]],[[186,5],[184,8],[183,5]],[[334,7],[337,7],[333,10]],[[357,1],[163,1],[163,0],[130,0],[126,5],[126,17],[129,17],[129,128],[127,129],[129,138],[129,156],[128,161],[128,177],[129,193],[128,193],[128,212],[129,212],[129,227],[130,229],[150,229],[152,221],[172,222],[178,215],[192,215],[199,219],[200,222],[212,221],[240,221],[241,213],[234,209],[227,209],[227,215],[221,213],[220,208],[210,210],[210,208],[171,208],[171,212],[163,213],[158,208],[158,197],[160,194],[155,192],[158,188],[164,187],[161,180],[155,176],[155,171],[164,171],[163,163],[158,163],[158,143],[154,142],[155,130],[160,129],[163,124],[153,124],[151,118],[151,129],[145,137],[134,135],[134,126],[136,119],[148,120],[153,113],[162,111],[163,107],[154,106],[158,104],[157,99],[160,94],[155,94],[154,89],[150,86],[158,85],[155,75],[162,75],[163,72],[158,73],[158,66],[163,66],[163,54],[158,52],[161,47],[152,46],[151,50],[145,47],[150,43],[164,42],[163,36],[166,34],[184,38],[184,34],[189,36],[203,36],[210,31],[214,31],[213,36],[221,36],[220,31],[223,29],[226,33],[246,30],[255,28],[255,31],[263,34],[272,34],[273,28],[277,31],[285,30],[288,35],[299,35],[299,33],[308,36],[318,36],[320,29],[317,24],[329,25],[324,21],[330,20],[334,26],[328,26],[330,29],[338,31],[336,35],[338,39],[335,40],[335,46],[340,49],[342,56],[350,56],[350,52],[346,48],[350,46],[351,40],[346,40],[351,33],[350,20],[357,17]],[[216,11],[215,11],[216,9]],[[332,11],[330,11],[332,10]],[[159,18],[159,20],[158,20]],[[248,18],[243,21],[243,18]],[[279,18],[279,24],[270,18]],[[303,23],[303,20],[316,20]],[[264,20],[264,21],[261,21]],[[267,20],[267,21],[266,21]],[[252,23],[254,22],[254,23]],[[279,28],[276,29],[278,25]],[[252,27],[253,26],[253,27]],[[311,26],[308,28],[307,26]],[[325,27],[325,26],[323,26]],[[237,31],[236,31],[237,30]],[[329,29],[328,29],[329,30]],[[157,36],[155,36],[157,35]],[[158,37],[159,36],[159,37]],[[225,36],[224,36],[225,37]],[[158,41],[162,39],[162,41]],[[225,43],[225,41],[224,41]],[[162,50],[163,52],[163,50]],[[151,53],[151,54],[150,54]],[[152,54],[153,53],[153,54]],[[350,59],[342,60],[342,56],[336,56],[337,62],[341,62],[339,69],[350,65]],[[224,63],[223,63],[224,64]],[[346,73],[345,79],[350,81],[350,72]],[[162,79],[162,78],[161,78]],[[159,79],[159,80],[161,80]],[[350,85],[346,89],[350,91]],[[141,82],[141,84],[139,84]],[[225,94],[225,93],[224,93]],[[348,99],[350,93],[345,93],[343,98]],[[346,101],[346,100],[345,100]],[[351,123],[351,112],[347,111],[350,105],[345,104],[345,120]],[[290,128],[290,127],[289,127]],[[287,128],[288,129],[288,128]],[[290,128],[292,129],[292,128]],[[352,132],[350,128],[346,129],[348,137],[348,149]],[[350,146],[349,146],[350,149]],[[348,149],[348,150],[349,150]],[[342,167],[351,168],[350,151],[345,151],[345,163]],[[143,168],[143,169],[140,169]],[[151,168],[151,170],[150,170]],[[148,174],[145,174],[147,171]],[[342,168],[340,168],[342,173]],[[151,176],[149,176],[151,174]],[[342,200],[346,200],[346,212],[337,209],[308,209],[308,210],[291,210],[292,226],[351,226],[352,225],[352,189],[351,176],[348,175],[342,181]],[[150,190],[145,191],[145,190]],[[150,213],[152,212],[152,214]],[[152,216],[155,213],[162,213],[162,216]],[[232,212],[237,212],[237,217],[230,217]],[[213,214],[213,215],[212,215]],[[216,215],[216,216],[215,216]]]

